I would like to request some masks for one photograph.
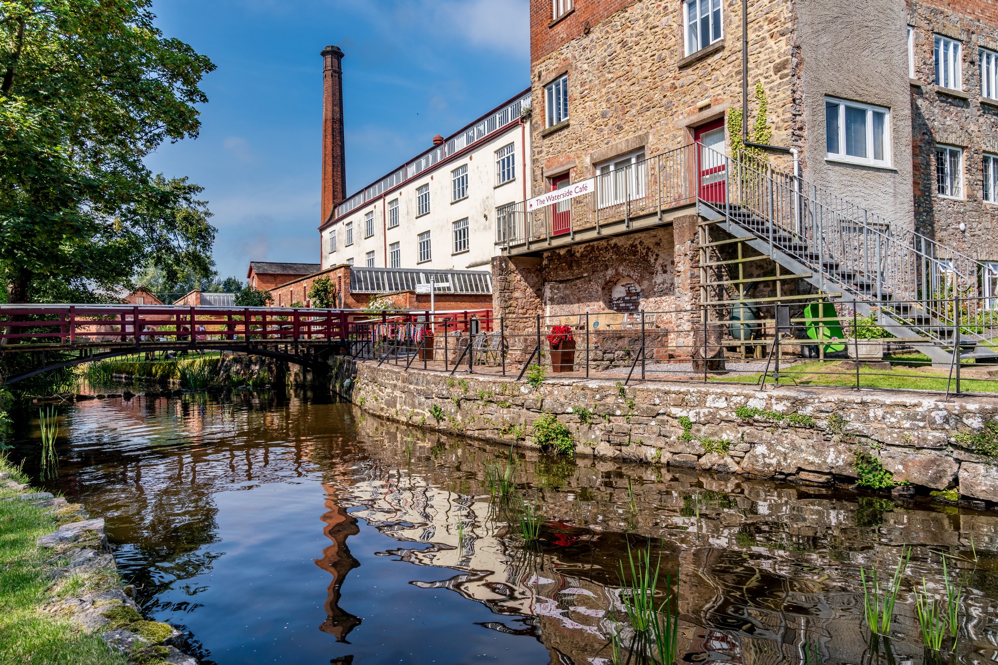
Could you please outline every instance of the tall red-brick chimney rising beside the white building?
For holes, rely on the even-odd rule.
[[[319,55],[322,67],[322,219],[346,198],[346,159],[343,151],[343,52],[327,46]]]

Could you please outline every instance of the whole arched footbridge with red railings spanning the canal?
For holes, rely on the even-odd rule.
[[[229,351],[325,369],[330,355],[370,355],[386,328],[449,322],[467,330],[487,311],[190,307],[172,305],[0,305],[0,355],[31,354],[13,384],[82,363],[155,351]]]

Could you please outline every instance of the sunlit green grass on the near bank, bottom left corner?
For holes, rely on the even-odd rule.
[[[26,479],[6,459],[0,472]],[[41,607],[57,591],[96,590],[93,578],[71,576],[53,587],[51,551],[35,538],[55,530],[56,518],[28,501],[11,500],[13,490],[0,489],[0,664],[2,665],[125,665],[97,635],[79,632],[68,619],[42,614]],[[117,579],[105,579],[108,587]],[[88,588],[89,587],[89,588]]]

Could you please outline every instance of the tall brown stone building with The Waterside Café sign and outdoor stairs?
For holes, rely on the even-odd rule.
[[[493,261],[507,316],[818,289],[916,300],[953,274],[990,298],[994,3],[532,0],[530,14],[538,198]]]

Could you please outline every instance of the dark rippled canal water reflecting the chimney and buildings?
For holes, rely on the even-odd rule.
[[[518,500],[544,518],[525,546],[487,482],[508,448],[328,396],[60,414],[58,476],[38,483],[106,518],[146,613],[207,663],[609,664],[629,548],[661,560],[679,662],[998,662],[995,511],[515,451]],[[37,422],[19,436],[37,474]],[[889,577],[905,545],[891,636],[871,642],[860,568]],[[942,593],[944,555],[962,599],[939,656],[913,591]]]

